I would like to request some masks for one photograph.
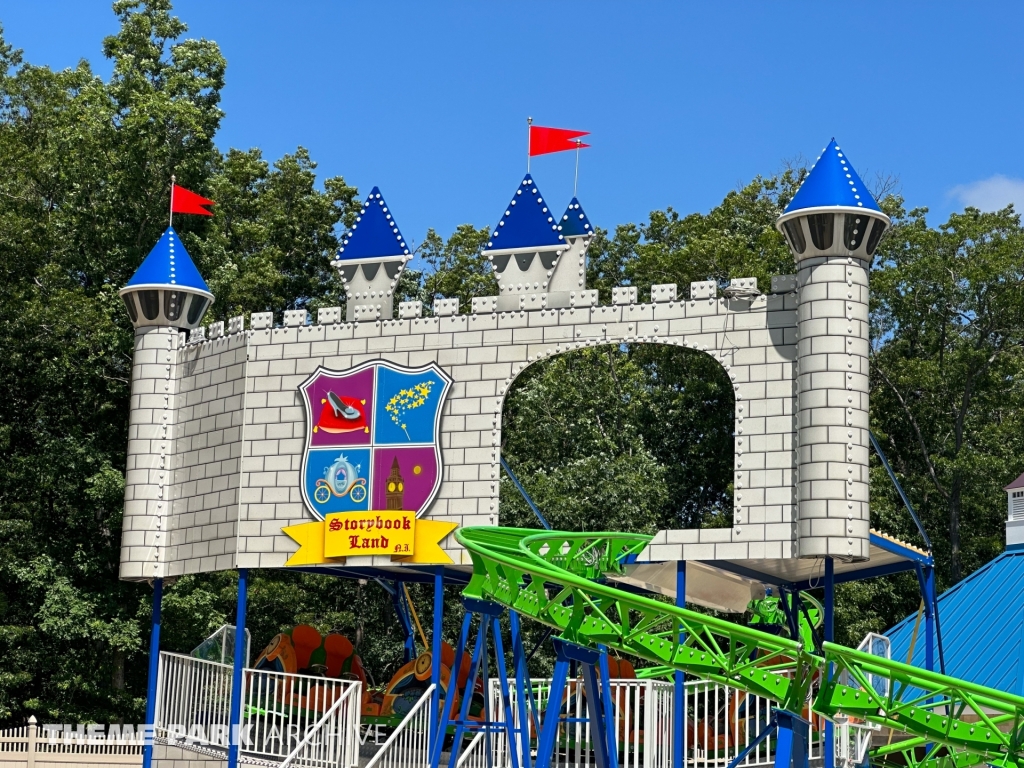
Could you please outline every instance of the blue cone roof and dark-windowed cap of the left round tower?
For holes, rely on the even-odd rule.
[[[119,293],[135,328],[190,330],[213,303],[213,294],[173,226],[167,227]]]

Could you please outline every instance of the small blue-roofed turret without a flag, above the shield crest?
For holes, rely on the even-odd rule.
[[[398,278],[412,258],[394,216],[375,186],[355,223],[342,237],[338,258],[331,262],[345,284],[347,319],[389,319]]]

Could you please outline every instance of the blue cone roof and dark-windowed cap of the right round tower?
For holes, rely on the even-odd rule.
[[[824,254],[869,259],[889,217],[834,138],[775,226],[798,259]]]

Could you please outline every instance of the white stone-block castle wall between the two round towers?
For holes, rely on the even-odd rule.
[[[281,528],[313,519],[299,492],[305,416],[297,387],[318,366],[340,371],[374,359],[402,366],[437,362],[454,380],[441,420],[442,483],[426,516],[460,525],[499,524],[502,404],[515,378],[555,354],[624,342],[711,354],[733,382],[736,397],[734,524],[662,531],[648,549],[649,558],[797,557],[802,553],[795,289],[792,278],[776,279],[777,293],[727,298],[717,295],[714,283],[697,283],[689,299],[677,299],[675,287],[657,287],[655,301],[647,304],[636,303],[635,290],[616,290],[612,306],[366,323],[341,323],[340,310],[322,310],[322,323],[306,325],[305,312],[289,312],[284,328],[272,328],[272,315],[259,313],[252,315],[249,330],[243,330],[241,318],[232,319],[226,337],[207,340],[194,334],[194,343],[168,347],[170,368],[150,370],[150,364],[138,361],[135,367],[133,391],[153,388],[151,379],[168,373],[176,387],[168,390],[176,394],[168,399],[168,421],[176,435],[171,539],[155,559],[166,563],[170,575],[283,566],[297,545]],[[160,338],[177,343],[166,333]],[[138,349],[148,355],[151,347]],[[139,414],[133,412],[133,428],[137,421],[141,427],[153,420],[141,404]],[[139,453],[143,449],[151,453]],[[150,443],[133,442],[130,466],[152,463],[152,451]],[[132,502],[156,498],[157,479],[133,475]],[[157,511],[136,509],[147,517]],[[156,523],[147,519],[145,524]],[[442,546],[457,563],[469,562],[454,537]],[[127,548],[122,578],[147,578],[140,565],[150,554]],[[388,557],[348,562],[392,564]]]

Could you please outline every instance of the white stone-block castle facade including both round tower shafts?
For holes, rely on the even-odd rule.
[[[624,342],[710,354],[735,394],[733,524],[662,531],[646,557],[792,558],[824,554],[821,547],[836,556],[866,553],[866,272],[845,259],[823,259],[802,265],[800,281],[800,291],[825,291],[810,308],[799,292],[740,301],[717,297],[714,284],[695,284],[691,298],[681,300],[675,287],[659,286],[649,304],[539,303],[357,323],[323,312],[315,325],[285,328],[260,313],[248,331],[188,344],[177,331],[142,329],[121,575],[284,566],[297,545],[282,527],[313,519],[299,492],[305,416],[298,386],[318,366],[440,366],[454,384],[441,418],[442,483],[424,514],[498,525],[502,404],[516,377],[553,355]],[[841,296],[833,295],[837,285]],[[800,400],[805,394],[810,399]],[[842,553],[834,551],[840,544]],[[456,563],[469,563],[454,537],[442,547]],[[349,564],[392,562],[368,557]]]

